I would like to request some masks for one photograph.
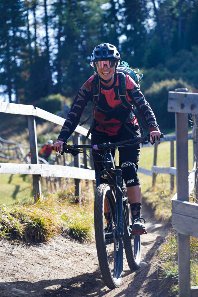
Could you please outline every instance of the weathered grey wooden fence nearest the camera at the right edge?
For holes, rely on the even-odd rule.
[[[190,286],[190,236],[198,237],[198,204],[189,202],[195,188],[197,196],[198,141],[194,143],[194,172],[188,171],[188,114],[194,113],[195,140],[198,139],[198,94],[169,92],[168,111],[175,112],[177,194],[172,198],[172,226],[178,232],[179,297],[197,297],[198,286]],[[193,184],[193,181],[195,183]]]

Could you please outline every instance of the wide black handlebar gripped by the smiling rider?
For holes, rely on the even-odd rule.
[[[160,134],[160,138],[163,138],[164,134]],[[86,149],[95,149],[95,150],[100,150],[100,149],[110,149],[113,147],[117,147],[117,146],[122,146],[125,144],[130,144],[130,143],[134,143],[134,144],[139,144],[139,143],[145,143],[145,141],[150,142],[150,136],[146,135],[146,136],[142,136],[142,137],[138,137],[138,138],[132,138],[132,139],[128,139],[128,140],[123,140],[123,141],[119,141],[119,142],[115,142],[115,143],[103,143],[103,144],[63,144],[63,152],[68,152],[71,153],[71,151],[76,151],[80,153],[79,149],[82,148],[86,148]],[[146,144],[146,143],[145,143]],[[52,146],[52,149],[54,150],[54,147]]]

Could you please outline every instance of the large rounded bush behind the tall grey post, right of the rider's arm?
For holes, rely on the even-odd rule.
[[[191,86],[183,82],[182,79],[172,79],[153,83],[144,93],[146,100],[151,105],[161,130],[175,127],[175,113],[168,112],[167,105],[168,92],[175,91],[177,88],[187,88],[189,92],[192,91]]]

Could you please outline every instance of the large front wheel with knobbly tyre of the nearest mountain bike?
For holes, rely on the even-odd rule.
[[[104,213],[108,213],[108,225]],[[116,238],[116,199],[108,184],[100,184],[96,189],[94,226],[100,271],[107,287],[114,289],[122,280],[123,247],[122,238]]]

